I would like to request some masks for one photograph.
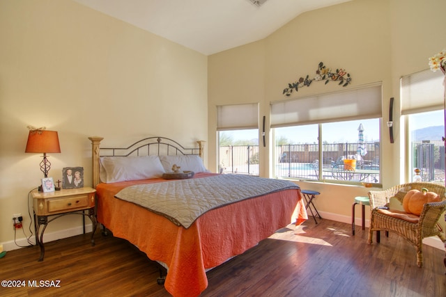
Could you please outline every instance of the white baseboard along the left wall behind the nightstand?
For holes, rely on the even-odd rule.
[[[92,230],[93,230],[92,224],[85,225],[86,233],[91,232]],[[64,238],[76,236],[76,235],[79,235],[82,233],[84,233],[84,228],[82,226],[74,227],[74,228],[70,228],[70,229],[66,229],[66,230],[60,230],[60,231],[56,231],[56,232],[45,232],[45,234],[43,234],[43,241],[45,243],[47,243],[49,241],[64,239]],[[29,241],[31,243],[33,243],[33,245],[36,244],[36,235],[33,234],[33,236],[31,236],[31,238],[29,239]],[[3,244],[3,250],[18,250],[19,248],[29,246],[29,243],[26,240],[26,237],[16,239],[15,242],[14,241],[6,241],[6,242],[0,243],[0,244]]]

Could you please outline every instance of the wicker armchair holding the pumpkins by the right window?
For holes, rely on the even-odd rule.
[[[388,207],[390,198],[394,197],[403,203],[403,198],[410,190],[427,188],[431,192],[435,192],[440,196],[441,202],[430,202],[424,204],[420,219],[417,223],[409,222],[401,218],[389,216],[378,211],[378,207]],[[444,242],[445,236],[438,227],[438,219],[446,209],[445,186],[428,182],[416,182],[410,184],[401,184],[394,186],[385,191],[370,191],[370,228],[369,228],[369,244],[372,243],[373,232],[376,231],[376,241],[379,243],[380,230],[390,231],[402,236],[404,239],[412,243],[417,250],[417,265],[422,267],[422,241],[425,237],[438,236]],[[415,215],[413,215],[415,216]]]

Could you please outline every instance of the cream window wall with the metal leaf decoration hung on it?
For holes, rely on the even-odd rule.
[[[306,74],[312,76],[322,61],[332,69],[343,68],[351,74],[351,85],[346,88],[382,82],[383,188],[400,184],[404,180],[404,139],[399,122],[399,79],[429,68],[428,58],[446,47],[445,11],[443,0],[354,0],[304,13],[264,40],[210,56],[209,168],[217,168],[216,105],[259,102],[260,117],[266,115],[268,127],[270,102],[285,100],[282,90],[288,83]],[[343,88],[336,83],[312,83],[291,98],[335,90]],[[396,102],[394,144],[385,126],[390,97]],[[271,145],[269,129],[266,135]],[[263,161],[261,175],[268,177],[271,147],[261,146],[259,154]],[[369,191],[362,186],[299,184],[321,192],[315,204],[325,217],[346,222],[351,220],[353,198]]]

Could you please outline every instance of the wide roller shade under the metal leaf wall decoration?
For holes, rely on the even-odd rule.
[[[380,84],[336,93],[273,102],[271,127],[382,117]]]

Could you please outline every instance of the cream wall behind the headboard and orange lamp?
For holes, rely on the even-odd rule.
[[[206,141],[207,57],[69,0],[0,1],[0,243],[15,247],[13,214],[31,222],[27,194],[43,173],[25,154],[28,129],[59,132],[49,176],[82,166],[91,185],[89,136],[107,146],[166,136]],[[32,211],[32,209],[31,209]],[[88,219],[87,219],[88,221]],[[82,230],[65,216],[46,234]],[[21,230],[17,239],[23,239]],[[49,237],[48,237],[49,239]],[[54,239],[54,236],[52,237]]]

